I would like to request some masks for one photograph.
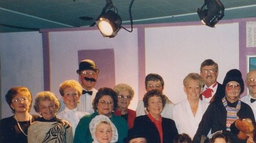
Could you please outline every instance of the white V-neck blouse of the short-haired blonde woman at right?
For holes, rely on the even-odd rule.
[[[199,100],[194,116],[188,99],[176,104],[173,107],[173,120],[175,121],[178,133],[186,133],[193,138],[208,105],[209,103]]]

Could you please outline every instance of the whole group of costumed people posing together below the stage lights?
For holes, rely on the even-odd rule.
[[[256,116],[256,70],[247,74],[249,94],[240,99],[244,80],[231,69],[223,84],[216,81],[218,65],[211,59],[183,81],[187,98],[173,104],[163,94],[164,81],[158,74],[145,77],[143,100],[136,111],[129,109],[134,90],[127,84],[94,88],[99,69],[92,60],[79,64],[75,80],[60,84],[62,99],[49,91],[36,94],[30,115],[31,92],[12,87],[6,102],[14,115],[0,121],[0,142],[246,142],[237,137],[234,123]],[[256,131],[255,131],[256,132]],[[249,137],[256,141],[256,137]]]

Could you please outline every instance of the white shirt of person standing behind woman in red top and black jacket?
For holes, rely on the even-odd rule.
[[[161,116],[166,118],[171,118],[173,120],[173,109],[174,104],[173,103],[166,103],[166,105],[163,107]],[[136,116],[141,115],[147,115],[147,111],[144,109],[144,103],[142,100],[138,102],[137,108],[136,108]]]

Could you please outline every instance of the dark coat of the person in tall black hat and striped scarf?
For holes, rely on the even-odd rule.
[[[235,102],[237,104],[237,102]],[[236,104],[228,103],[228,105],[235,107]],[[239,118],[250,118],[253,122],[255,122],[253,112],[249,105],[244,102],[241,102],[241,109],[237,113]],[[194,143],[200,142],[202,135],[207,136],[211,129],[211,133],[216,131],[223,130],[231,139],[232,143],[235,142],[246,142],[246,140],[240,140],[237,138],[237,135],[234,132],[226,131],[226,120],[227,120],[227,110],[224,107],[221,101],[214,101],[211,103],[205,114],[202,117],[201,122],[198,125],[198,129],[193,138]],[[231,127],[230,127],[231,128]],[[232,131],[232,128],[231,128]]]

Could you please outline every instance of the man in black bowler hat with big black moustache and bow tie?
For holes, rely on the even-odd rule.
[[[80,103],[77,106],[79,111],[93,113],[92,102],[96,96],[98,90],[94,88],[94,85],[98,79],[99,69],[97,69],[94,61],[85,59],[79,63],[79,69],[77,74],[79,75],[79,81],[83,87],[82,96],[80,97]],[[65,108],[65,105],[61,102],[61,109]],[[64,106],[64,108],[63,108]]]

